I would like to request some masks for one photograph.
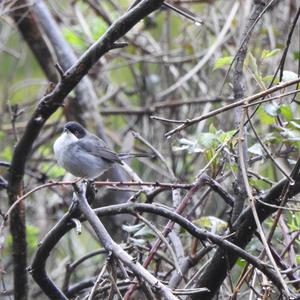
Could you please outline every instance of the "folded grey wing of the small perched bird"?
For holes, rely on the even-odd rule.
[[[89,138],[83,138],[79,139],[76,142],[77,146],[80,147],[82,150],[90,153],[91,155],[94,155],[96,157],[106,159],[110,162],[120,163],[122,164],[122,161],[120,160],[117,153],[109,149],[109,147],[106,145],[104,141],[99,139],[97,136],[91,134],[89,135]]]

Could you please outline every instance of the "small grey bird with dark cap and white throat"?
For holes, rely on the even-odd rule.
[[[137,153],[116,153],[101,138],[77,122],[64,125],[63,133],[53,144],[58,164],[76,177],[95,179],[123,159],[149,156]]]

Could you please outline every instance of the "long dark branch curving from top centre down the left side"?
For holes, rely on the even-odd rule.
[[[65,72],[63,80],[61,80],[49,94],[41,99],[26,126],[23,136],[20,138],[14,150],[8,178],[8,196],[10,205],[17,200],[17,195],[22,194],[22,180],[25,165],[32,145],[45,122],[57,108],[61,106],[65,97],[87,74],[99,58],[108,52],[113,47],[114,43],[124,36],[141,19],[158,9],[162,2],[162,0],[144,0],[121,16],[108,28],[106,33],[95,42],[67,72]],[[14,211],[11,219],[14,251],[14,278],[15,286],[20,290],[18,297],[16,298],[26,299],[27,261],[25,211],[22,203],[18,205],[18,208],[18,210]]]

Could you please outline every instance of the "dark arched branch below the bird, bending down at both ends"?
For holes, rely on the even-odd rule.
[[[280,189],[280,187],[281,187],[281,185],[277,189]],[[278,190],[276,190],[276,192],[278,193]],[[272,193],[274,193],[274,191],[272,191]],[[270,208],[267,208],[267,210],[269,210],[269,209]],[[185,230],[187,230],[194,237],[197,237],[199,239],[204,239],[204,240],[210,240],[213,243],[222,247],[221,249],[225,249],[224,253],[230,254],[233,257],[240,256],[240,257],[244,258],[249,263],[251,263],[253,266],[255,266],[257,269],[259,269],[261,272],[263,272],[279,289],[281,289],[281,283],[280,283],[279,279],[274,274],[274,272],[272,270],[270,270],[268,265],[262,263],[260,260],[258,260],[253,255],[249,254],[247,251],[244,251],[243,249],[241,249],[240,246],[233,244],[233,242],[225,240],[224,237],[212,234],[206,230],[198,228],[197,226],[195,226],[193,223],[191,223],[184,217],[180,216],[179,214],[177,214],[175,212],[172,212],[171,210],[169,210],[165,207],[161,207],[161,206],[153,205],[153,204],[125,203],[125,204],[107,206],[107,207],[103,207],[103,208],[97,208],[95,210],[95,213],[98,215],[98,217],[112,216],[112,215],[117,215],[117,214],[133,214],[134,215],[136,213],[143,213],[143,212],[153,213],[156,215],[163,216],[167,219],[171,219],[172,221],[181,225]],[[251,213],[251,210],[250,210],[250,213]],[[249,214],[249,211],[245,212],[245,214]],[[244,214],[243,214],[243,216],[244,216]],[[33,276],[35,276],[34,277],[35,280],[38,280],[38,284],[40,286],[41,286],[41,284],[42,284],[42,286],[46,286],[47,289],[49,289],[51,293],[54,293],[54,292],[57,293],[57,287],[47,276],[46,271],[45,271],[45,265],[46,265],[46,260],[48,259],[49,254],[50,254],[51,250],[54,248],[54,246],[59,242],[59,240],[70,229],[72,229],[75,226],[73,222],[67,222],[67,220],[70,220],[71,217],[68,217],[68,219],[66,219],[66,218],[67,218],[67,216],[64,216],[63,220],[61,220],[49,232],[49,234],[44,238],[40,248],[38,249],[38,252],[35,255],[34,262],[31,267],[31,270],[32,270],[31,273]],[[249,216],[247,216],[247,218],[249,218]],[[247,223],[247,225],[248,225],[248,223]],[[245,225],[245,226],[247,226],[247,225]],[[249,230],[249,228],[248,228],[248,230]],[[238,237],[240,238],[240,236],[238,236]],[[238,239],[238,238],[236,238],[236,239]],[[224,253],[223,253],[223,260],[224,260],[224,255],[225,255]],[[64,298],[53,298],[53,299],[64,299]]]

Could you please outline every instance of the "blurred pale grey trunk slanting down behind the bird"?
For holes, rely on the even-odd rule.
[[[68,70],[77,62],[78,57],[66,41],[57,21],[52,16],[46,4],[43,1],[37,1],[32,6],[32,10],[49,39],[64,73],[64,71]],[[120,46],[120,43],[114,43],[112,49],[114,49],[116,45]],[[107,141],[104,125],[97,106],[98,97],[89,76],[85,76],[76,85],[74,92],[75,97],[70,97],[67,103],[65,103],[64,112],[67,120],[75,120],[83,125],[86,125],[86,120],[94,120],[93,123],[95,124],[97,135]],[[108,174],[109,179],[113,181],[126,181],[128,179],[124,172],[121,172],[121,167],[118,166],[112,168]],[[105,205],[108,202],[106,198],[109,198],[109,201],[113,201],[113,203],[124,203],[130,196],[131,193],[128,191],[109,191],[101,203]],[[113,218],[109,220],[107,224],[110,226],[118,226],[120,222],[128,221],[129,220],[124,216],[123,220]],[[117,233],[118,232],[116,232],[116,234]]]

